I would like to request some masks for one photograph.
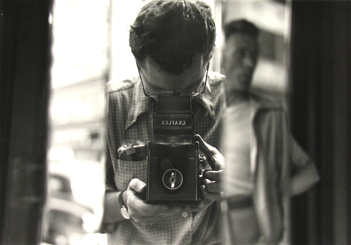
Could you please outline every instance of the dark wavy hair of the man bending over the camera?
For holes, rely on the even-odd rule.
[[[153,0],[140,9],[129,34],[135,59],[146,57],[161,69],[183,73],[199,55],[212,56],[216,26],[211,8],[198,0]]]

